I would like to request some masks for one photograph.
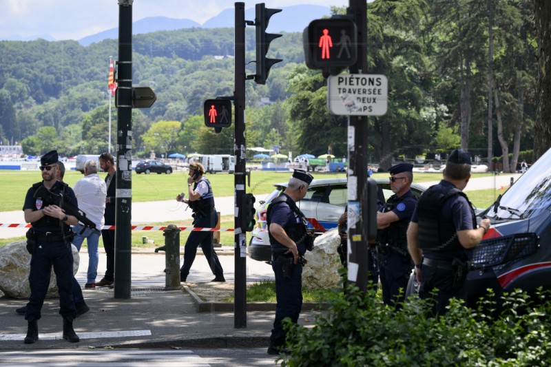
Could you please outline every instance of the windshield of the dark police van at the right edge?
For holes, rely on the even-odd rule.
[[[530,218],[551,205],[551,149],[543,154],[517,182],[506,191],[498,205],[486,216],[496,219]]]

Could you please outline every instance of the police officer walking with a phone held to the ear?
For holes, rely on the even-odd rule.
[[[214,208],[214,194],[209,180],[202,175],[205,167],[199,162],[189,163],[189,177],[187,178],[188,198],[176,196],[176,200],[185,202],[194,211],[194,227],[214,228],[218,223],[218,213]],[[213,233],[211,231],[192,231],[184,247],[184,264],[180,268],[180,282],[185,282],[189,269],[194,263],[197,247],[201,245],[202,253],[207,258],[212,273],[213,282],[225,282],[224,270],[214,251]]]

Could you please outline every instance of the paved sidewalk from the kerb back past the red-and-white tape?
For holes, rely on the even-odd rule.
[[[233,252],[233,251],[229,251]],[[76,278],[85,283],[87,258],[81,257]],[[225,277],[233,284],[233,256],[220,255]],[[27,323],[15,309],[26,300],[0,298],[0,350],[43,348],[122,347],[264,347],[269,344],[274,311],[248,311],[245,328],[235,328],[233,311],[214,306],[198,312],[194,297],[183,290],[164,291],[165,257],[161,254],[132,255],[132,297],[114,298],[112,289],[83,290],[90,311],[74,321],[79,343],[61,339],[62,319],[59,300],[46,300],[39,320],[39,341],[23,344]],[[100,273],[98,271],[98,273]],[[214,275],[207,261],[198,255],[191,268],[190,282],[208,282]],[[271,266],[247,259],[247,282],[273,279]],[[214,285],[214,284],[213,284]],[[205,305],[203,305],[205,306]],[[317,311],[301,314],[301,324],[311,324]],[[308,320],[308,321],[305,321]]]

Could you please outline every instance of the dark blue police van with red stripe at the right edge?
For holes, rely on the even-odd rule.
[[[496,297],[540,286],[551,289],[551,149],[488,209],[477,213],[492,224],[475,248],[466,279],[467,304],[492,289]],[[415,275],[406,295],[415,293]]]

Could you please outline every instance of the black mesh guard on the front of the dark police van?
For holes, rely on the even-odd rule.
[[[525,258],[539,249],[536,233],[516,233],[484,240],[475,249],[471,268],[481,269]]]

